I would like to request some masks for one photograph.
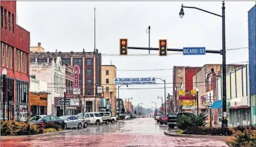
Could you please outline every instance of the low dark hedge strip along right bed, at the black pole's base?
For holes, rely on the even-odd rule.
[[[186,128],[183,134],[196,134],[196,135],[225,135],[231,136],[232,130],[228,127],[198,127],[198,126],[190,126]]]

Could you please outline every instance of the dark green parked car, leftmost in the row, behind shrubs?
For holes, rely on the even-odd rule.
[[[63,128],[65,129],[65,122],[64,119],[61,119],[57,116],[52,116],[52,115],[36,115],[31,117],[28,122],[30,124],[38,124],[41,126],[42,122],[47,125],[47,123],[55,123],[58,125],[58,128]]]

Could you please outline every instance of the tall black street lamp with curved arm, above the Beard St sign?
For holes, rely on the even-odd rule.
[[[213,14],[215,16],[219,16],[222,18],[222,127],[228,126],[228,121],[226,120],[226,36],[225,36],[225,1],[222,1],[222,15],[215,14],[212,12],[209,12],[207,10],[199,9],[196,7],[190,7],[190,6],[183,6],[181,5],[181,11],[180,11],[180,17],[182,18],[184,16],[184,10],[183,8],[192,8],[192,9],[198,9],[206,13]]]

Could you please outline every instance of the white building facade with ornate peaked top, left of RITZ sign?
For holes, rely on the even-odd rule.
[[[65,88],[65,65],[61,57],[55,58],[52,63],[30,63],[30,75],[35,79],[47,82],[47,115],[57,115],[57,108],[54,107],[54,97],[64,97]]]

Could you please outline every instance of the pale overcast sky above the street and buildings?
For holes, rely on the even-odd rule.
[[[30,31],[31,46],[38,42],[49,52],[93,52],[94,7],[96,7],[96,47],[103,54],[102,64],[112,64],[124,69],[169,69],[164,71],[118,71],[119,78],[157,77],[172,81],[174,66],[221,64],[219,54],[206,56],[182,56],[182,54],[159,56],[118,56],[119,39],[127,38],[129,46],[148,47],[148,26],[151,26],[151,46],[158,47],[159,39],[167,39],[168,48],[206,47],[222,49],[221,17],[184,8],[196,6],[221,14],[222,2],[17,2],[17,24]],[[226,2],[226,49],[248,47],[248,10],[251,2]],[[157,51],[151,51],[158,54]],[[170,53],[170,52],[169,52]],[[177,53],[177,52],[171,52]],[[109,56],[114,54],[114,56]],[[129,54],[148,54],[146,50],[129,50]],[[226,63],[248,61],[248,49],[226,52]],[[157,80],[157,83],[163,83]],[[164,87],[163,84],[129,86],[129,88]],[[166,93],[172,94],[166,84]],[[145,107],[160,105],[158,96],[164,89],[120,90],[120,98],[133,97],[133,104],[143,102]],[[118,95],[116,95],[118,96]]]

